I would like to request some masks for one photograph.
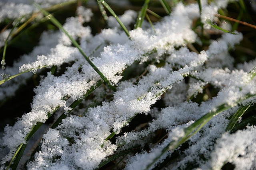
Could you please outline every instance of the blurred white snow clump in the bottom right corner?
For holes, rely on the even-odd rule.
[[[254,169],[256,167],[255,137],[255,126],[247,126],[247,129],[238,130],[233,134],[224,133],[216,141],[210,160],[201,168],[221,169],[226,162],[229,162],[235,166],[235,170]]]

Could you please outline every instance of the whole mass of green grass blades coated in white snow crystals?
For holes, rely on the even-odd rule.
[[[62,0],[34,2],[48,9]],[[68,66],[61,75],[48,72],[41,76],[34,88],[31,111],[4,128],[0,169],[93,170],[112,160],[120,161],[117,169],[126,170],[162,165],[168,170],[218,170],[227,162],[236,170],[255,169],[256,127],[250,121],[241,121],[241,116],[254,108],[256,60],[234,65],[229,52],[242,41],[242,33],[228,33],[231,25],[226,22],[219,25],[224,31],[211,27],[218,10],[231,2],[201,0],[201,8],[198,3],[178,2],[170,14],[152,25],[138,17],[138,12],[127,10],[118,16],[127,32],[116,17],[108,16],[108,27],[93,35],[92,28],[83,24],[94,15],[87,5],[96,3],[78,6],[76,16],[67,18],[63,28],[108,80],[106,83],[61,30],[44,31],[39,44],[12,66],[4,68],[2,61],[2,101],[14,96],[33,73],[52,67],[60,71],[65,63]],[[31,1],[1,1],[0,22],[23,17],[22,23],[39,11]],[[131,28],[137,18],[144,20],[142,25]],[[202,27],[194,28],[196,20]],[[193,50],[192,44],[204,43],[197,29],[215,31],[220,37],[209,40],[204,50]],[[6,29],[0,33],[1,47],[10,32]],[[12,78],[19,72],[22,74]],[[130,75],[124,77],[125,72]],[[205,92],[209,86],[217,90],[215,95]],[[197,102],[200,94],[204,94],[203,99]],[[140,114],[150,117],[148,122],[123,132]],[[51,115],[57,123],[41,126]],[[244,128],[234,130],[240,123],[245,123]],[[26,144],[39,127],[38,132],[43,134],[39,150],[33,158],[27,154],[33,151],[25,151],[18,164],[22,150],[30,147]],[[159,131],[165,135],[154,141]]]

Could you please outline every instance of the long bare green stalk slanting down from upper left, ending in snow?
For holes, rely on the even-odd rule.
[[[42,9],[38,4],[34,3],[35,6],[45,15],[49,17],[49,20],[56,25],[61,31],[63,31],[68,38],[70,39],[70,41],[73,43],[73,45],[80,51],[80,53],[82,54],[82,56],[86,59],[86,61],[90,64],[90,66],[92,66],[92,68],[98,73],[98,75],[104,80],[104,82],[106,82],[111,88],[112,90],[116,91],[116,88],[114,86],[112,86],[109,82],[109,80],[104,76],[104,74],[102,74],[102,72],[92,63],[92,61],[90,61],[90,59],[87,57],[87,55],[84,53],[84,51],[81,49],[81,47],[78,45],[78,43],[69,35],[69,33],[62,27],[62,25],[60,24],[60,22],[58,20],[56,20],[56,18],[54,18],[49,12],[47,12],[46,10]]]

